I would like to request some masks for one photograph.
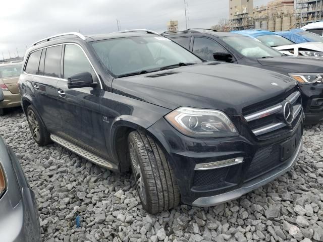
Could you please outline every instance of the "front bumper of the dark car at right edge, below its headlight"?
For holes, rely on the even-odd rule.
[[[305,125],[317,124],[323,120],[323,83],[300,84]]]

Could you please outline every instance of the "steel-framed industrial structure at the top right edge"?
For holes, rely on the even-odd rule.
[[[323,20],[323,0],[296,0],[296,27]]]

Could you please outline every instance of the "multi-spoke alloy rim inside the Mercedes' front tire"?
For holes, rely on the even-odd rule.
[[[135,148],[133,147],[132,143],[129,143],[129,152],[130,152],[131,165],[132,165],[132,170],[134,173],[139,197],[141,198],[141,202],[143,204],[146,204],[147,197],[145,193],[145,185],[143,183],[143,177],[142,177],[139,161],[135,152]]]

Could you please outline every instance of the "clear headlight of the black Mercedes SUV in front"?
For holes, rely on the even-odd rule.
[[[239,135],[229,117],[218,110],[180,107],[165,117],[179,132],[190,137]]]

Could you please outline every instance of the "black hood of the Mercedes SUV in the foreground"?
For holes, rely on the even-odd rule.
[[[112,88],[114,93],[172,110],[189,106],[240,114],[242,108],[286,93],[295,85],[293,79],[279,73],[206,62],[118,78]]]

